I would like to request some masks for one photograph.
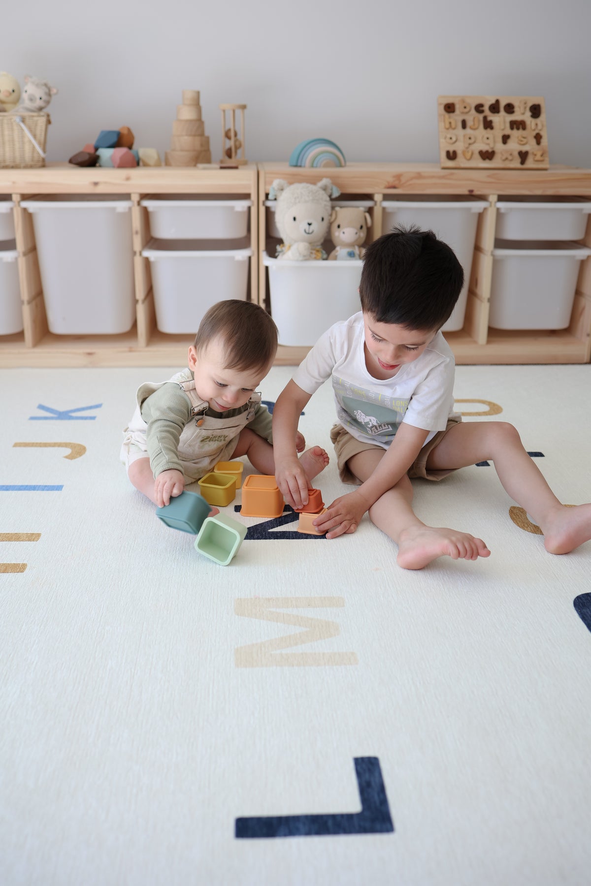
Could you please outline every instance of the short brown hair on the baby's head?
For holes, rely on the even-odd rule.
[[[210,341],[222,336],[226,369],[263,369],[277,350],[277,327],[267,311],[253,301],[218,301],[204,315],[195,348],[202,351]]]

